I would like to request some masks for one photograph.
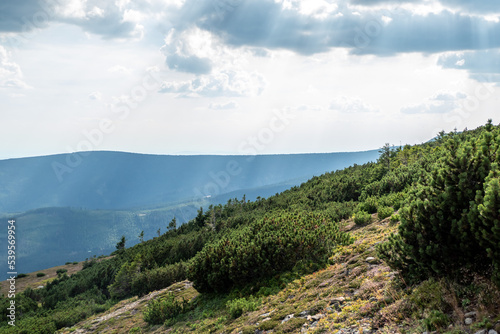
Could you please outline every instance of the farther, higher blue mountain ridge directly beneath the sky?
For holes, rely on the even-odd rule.
[[[0,212],[165,206],[284,183],[300,184],[312,176],[377,157],[377,150],[260,156],[88,152],[0,160]],[[264,191],[259,196],[269,195]]]

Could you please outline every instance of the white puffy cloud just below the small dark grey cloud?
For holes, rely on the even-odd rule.
[[[164,82],[160,93],[179,97],[258,96],[266,86],[264,77],[255,72],[220,71],[182,82]]]

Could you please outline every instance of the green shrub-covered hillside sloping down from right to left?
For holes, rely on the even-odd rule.
[[[130,248],[119,243],[113,258],[90,260],[71,277],[61,273],[45,288],[18,294],[15,328],[7,325],[9,300],[2,298],[0,331],[53,333],[120,300],[189,280],[200,295],[151,299],[143,314],[147,327],[134,332],[166,326],[178,332],[225,333],[231,319],[257,309],[263,300],[286,304],[273,298],[279,299],[290,284],[306,289],[305,277],[339,266],[349,276],[359,259],[339,261],[346,249],[366,256],[368,247],[361,249],[356,229],[369,232],[375,220],[391,222],[373,226],[380,236],[395,230],[369,244],[373,255],[391,267],[391,286],[380,299],[370,299],[370,308],[349,304],[339,310],[344,299],[329,306],[320,302],[320,292],[311,294],[310,302],[317,304],[314,312],[324,319],[306,331],[337,330],[341,322],[351,325],[341,317],[347,311],[375,319],[368,332],[394,325],[399,332],[460,333],[474,330],[470,323],[464,327],[464,319],[471,317],[482,322],[476,329],[493,328],[500,320],[495,318],[500,312],[499,146],[500,128],[489,122],[472,131],[441,133],[422,145],[386,145],[376,163],[326,173],[267,199],[232,199],[200,209],[195,219],[182,226],[172,222],[159,237]],[[355,225],[347,229],[349,222]],[[372,287],[384,275],[371,277]],[[367,281],[346,284],[358,293]],[[361,298],[359,293],[349,298]],[[388,307],[391,316],[382,316]],[[474,315],[466,317],[471,311]],[[270,314],[271,320],[228,332],[304,328],[302,320],[286,316],[275,319]]]

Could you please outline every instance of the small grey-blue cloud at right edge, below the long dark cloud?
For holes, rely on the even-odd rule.
[[[444,54],[439,57],[438,65],[466,70],[471,78],[480,82],[500,83],[500,49]]]

